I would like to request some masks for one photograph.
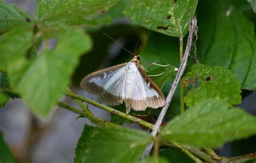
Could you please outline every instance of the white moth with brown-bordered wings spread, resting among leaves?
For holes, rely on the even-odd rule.
[[[126,114],[130,109],[144,111],[147,107],[165,105],[165,96],[156,83],[145,73],[136,55],[128,63],[105,68],[84,77],[80,87],[100,95],[109,105],[125,102]]]

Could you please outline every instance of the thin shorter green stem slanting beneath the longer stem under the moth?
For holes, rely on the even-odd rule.
[[[57,104],[59,107],[62,107],[64,109],[67,109],[67,110],[70,110],[72,112],[75,112],[76,114],[80,115],[80,116],[83,116],[83,117],[86,117],[88,118],[92,124],[95,124],[95,125],[109,125],[109,126],[116,126],[115,124],[111,123],[111,122],[108,122],[108,121],[105,121],[104,119],[102,118],[97,118],[95,116],[91,116],[89,114],[87,114],[86,112],[82,111],[82,110],[79,110],[75,107],[71,107],[70,105],[67,105],[63,102],[59,102]]]

